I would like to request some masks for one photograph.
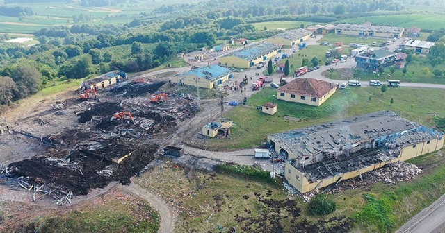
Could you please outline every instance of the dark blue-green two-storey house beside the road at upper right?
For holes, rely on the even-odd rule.
[[[366,51],[355,55],[357,67],[377,71],[380,67],[387,67],[396,62],[397,53],[378,49],[374,51]]]

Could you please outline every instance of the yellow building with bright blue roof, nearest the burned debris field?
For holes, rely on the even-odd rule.
[[[212,89],[216,85],[227,82],[232,78],[232,71],[225,67],[211,65],[208,67],[198,67],[172,77],[173,83],[180,85],[190,85]]]

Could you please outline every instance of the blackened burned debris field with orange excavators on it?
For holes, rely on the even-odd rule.
[[[124,82],[101,89],[96,98],[64,101],[58,110],[65,114],[54,110],[38,114],[39,119],[48,119],[43,122],[68,115],[75,117],[65,121],[76,122],[74,127],[61,127],[60,132],[51,135],[21,132],[34,138],[35,143],[44,144],[44,155],[9,164],[1,181],[72,196],[86,195],[90,189],[104,188],[112,181],[128,184],[156,158],[163,146],[159,144],[162,135],[171,134],[180,121],[199,111],[193,99],[174,94],[168,94],[162,102],[151,101],[163,84]],[[44,125],[39,125],[39,131]]]

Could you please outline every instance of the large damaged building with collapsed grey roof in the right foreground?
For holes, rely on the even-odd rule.
[[[286,157],[286,180],[307,193],[439,150],[443,136],[394,112],[381,111],[270,135],[268,142]]]

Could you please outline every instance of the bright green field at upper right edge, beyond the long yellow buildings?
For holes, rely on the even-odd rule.
[[[363,24],[365,21],[370,21],[373,25],[386,25],[386,26],[403,26],[409,28],[412,26],[419,27],[421,29],[437,30],[444,28],[444,25],[439,23],[444,21],[445,15],[381,15],[360,17],[353,19],[342,19],[335,23],[347,23],[347,24]]]

